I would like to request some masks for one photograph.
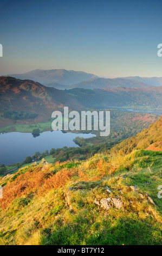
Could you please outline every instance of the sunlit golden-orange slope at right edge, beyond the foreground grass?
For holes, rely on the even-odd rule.
[[[142,130],[136,136],[128,138],[120,144],[116,145],[117,149],[127,150],[132,149],[150,149],[152,146],[154,148],[155,143],[160,143],[162,141],[162,115],[156,121],[156,123],[151,124],[148,129]],[[157,145],[158,148],[160,145]]]

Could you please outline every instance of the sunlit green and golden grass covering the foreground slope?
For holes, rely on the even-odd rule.
[[[1,245],[162,245],[162,199],[157,196],[157,187],[162,185],[162,153],[139,150],[112,159],[98,154],[62,167],[79,168],[89,177],[95,176],[100,159],[116,164],[116,172],[96,181],[77,181],[75,177],[62,188],[39,197],[17,198],[8,209],[0,210]],[[59,171],[55,164],[53,168]],[[156,207],[130,191],[131,185],[148,193]],[[72,186],[69,209],[65,194]],[[110,194],[105,186],[111,188]],[[107,197],[119,197],[123,208],[107,211],[94,204],[95,198]]]

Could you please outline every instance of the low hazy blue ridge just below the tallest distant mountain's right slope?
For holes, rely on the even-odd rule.
[[[95,89],[95,88],[114,88],[114,87],[138,87],[138,88],[145,88],[149,87],[148,84],[128,80],[124,78],[94,78],[93,80],[83,81],[81,83],[73,84],[72,88],[84,88],[84,89]]]

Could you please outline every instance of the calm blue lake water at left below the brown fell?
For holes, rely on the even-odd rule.
[[[95,135],[88,133],[62,133],[62,131],[48,131],[40,133],[34,138],[31,133],[9,132],[0,134],[0,164],[22,162],[26,156],[33,156],[51,148],[79,147],[73,139],[76,137],[90,138]]]

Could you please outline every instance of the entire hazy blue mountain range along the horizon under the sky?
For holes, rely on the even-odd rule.
[[[120,77],[120,78],[101,78],[94,74],[88,74],[82,71],[73,71],[65,69],[51,70],[33,70],[24,74],[11,74],[21,80],[33,80],[44,86],[54,87],[56,89],[102,89],[115,87],[128,88],[146,88],[151,86],[161,86],[162,77]]]

